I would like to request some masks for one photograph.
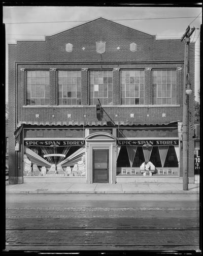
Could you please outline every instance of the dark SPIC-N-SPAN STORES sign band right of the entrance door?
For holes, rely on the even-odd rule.
[[[167,140],[118,140],[118,145],[128,145],[128,146],[177,146],[179,144],[178,139],[167,139]]]

